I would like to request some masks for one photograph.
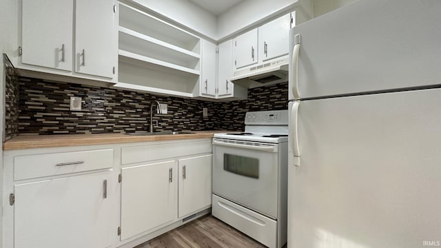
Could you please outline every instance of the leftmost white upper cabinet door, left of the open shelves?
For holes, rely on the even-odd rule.
[[[72,71],[72,0],[23,0],[21,63]]]

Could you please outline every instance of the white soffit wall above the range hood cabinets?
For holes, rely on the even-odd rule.
[[[231,38],[256,23],[276,17],[281,12],[293,10],[298,0],[245,0],[218,17],[216,39]]]

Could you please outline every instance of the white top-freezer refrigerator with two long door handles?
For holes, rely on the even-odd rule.
[[[441,246],[441,1],[360,0],[290,50],[287,247]]]

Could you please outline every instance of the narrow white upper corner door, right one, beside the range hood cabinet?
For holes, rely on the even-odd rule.
[[[225,41],[218,48],[218,96],[228,96],[233,92],[232,77],[233,41]]]

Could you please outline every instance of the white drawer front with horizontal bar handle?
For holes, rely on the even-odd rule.
[[[14,180],[113,167],[113,149],[14,157]]]

